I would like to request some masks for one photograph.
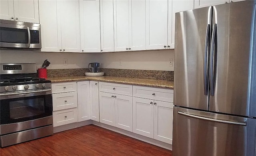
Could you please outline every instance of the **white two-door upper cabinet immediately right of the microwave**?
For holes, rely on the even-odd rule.
[[[40,0],[42,51],[80,52],[78,0]]]

